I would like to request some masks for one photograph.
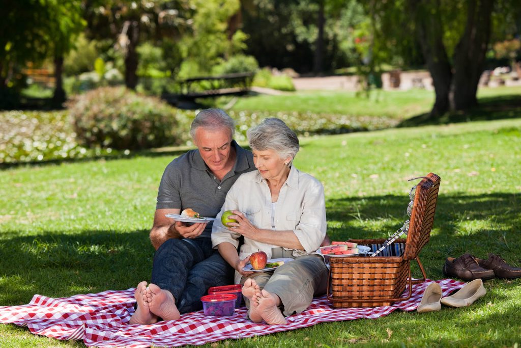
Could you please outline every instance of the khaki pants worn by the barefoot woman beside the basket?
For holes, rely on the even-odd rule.
[[[315,254],[296,257],[274,271],[258,272],[249,277],[242,277],[255,282],[266,291],[280,297],[280,310],[284,316],[301,313],[311,304],[313,296],[326,293],[329,273],[324,259]],[[245,298],[246,307],[250,302]]]

